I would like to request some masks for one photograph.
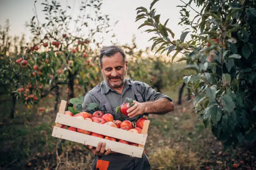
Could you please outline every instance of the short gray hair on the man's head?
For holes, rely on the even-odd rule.
[[[116,45],[110,45],[105,46],[100,49],[100,57],[99,57],[99,63],[100,66],[102,66],[102,57],[111,57],[112,55],[115,55],[115,53],[120,52],[120,54],[123,56],[123,62],[126,62],[126,56],[122,48],[116,46]]]

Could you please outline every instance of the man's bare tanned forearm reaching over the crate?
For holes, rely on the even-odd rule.
[[[174,105],[166,98],[160,98],[156,101],[144,102],[145,112],[151,114],[165,114],[174,110]]]

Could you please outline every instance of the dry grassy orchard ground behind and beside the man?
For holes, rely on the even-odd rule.
[[[178,87],[176,91],[167,89],[164,94],[171,97],[175,104]],[[39,103],[39,106],[46,108],[43,113],[33,113],[19,103],[13,120],[6,118],[6,112],[1,112],[0,145],[4,146],[0,148],[1,170],[92,168],[93,155],[83,145],[51,137],[56,115],[53,101],[47,99]],[[5,108],[5,105],[8,105],[8,100],[1,107]],[[256,169],[255,154],[250,155],[244,150],[224,152],[210,128],[205,128],[197,120],[198,115],[190,111],[191,107],[183,100],[182,105],[175,104],[174,112],[150,115],[145,149],[152,170],[204,170],[206,166],[211,170],[231,170],[233,163],[238,163],[238,169],[248,166],[251,170]],[[239,163],[241,160],[243,165]]]

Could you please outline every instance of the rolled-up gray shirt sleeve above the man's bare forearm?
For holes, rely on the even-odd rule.
[[[164,95],[161,92],[156,92],[156,90],[154,90],[152,87],[150,87],[148,84],[144,82],[139,83],[139,86],[141,90],[141,95],[143,95],[143,98],[146,101],[154,101],[159,98],[166,98],[170,102],[172,102],[172,99],[169,96]]]

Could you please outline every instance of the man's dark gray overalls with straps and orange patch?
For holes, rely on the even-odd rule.
[[[140,92],[138,92],[135,84],[130,81],[132,85],[132,90],[135,94],[133,97],[133,100],[136,100],[138,102],[145,102],[143,100],[143,97]],[[102,84],[102,83],[101,83]],[[96,86],[97,87],[97,86]],[[102,93],[101,85],[98,86],[98,88],[94,88],[90,91],[92,95],[94,95],[98,101],[100,101],[100,104],[105,107],[105,110],[108,113],[111,113],[114,117],[114,120],[120,119],[119,115],[115,114],[115,108],[110,106],[110,103],[108,102],[108,99],[105,97],[105,95]],[[148,114],[144,114],[148,115]],[[143,115],[140,115],[143,117]],[[134,120],[136,117],[128,118],[128,120]],[[131,157],[129,155],[124,155],[121,153],[110,153],[109,155],[94,155],[93,158],[93,170],[150,170],[151,166],[149,163],[149,160],[145,153],[143,153],[142,158],[135,158]]]

